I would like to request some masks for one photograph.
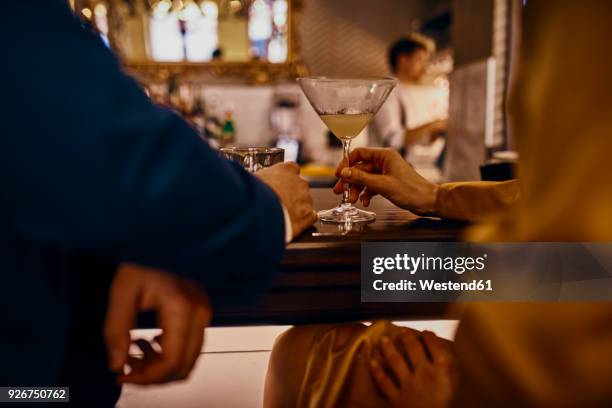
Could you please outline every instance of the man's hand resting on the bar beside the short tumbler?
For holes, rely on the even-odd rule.
[[[299,173],[299,166],[293,162],[275,164],[255,173],[274,190],[289,212],[294,238],[317,221],[308,182]]]

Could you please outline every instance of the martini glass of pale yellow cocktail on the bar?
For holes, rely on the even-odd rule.
[[[396,84],[393,78],[306,77],[298,78],[298,82],[321,120],[342,142],[347,163],[351,140],[370,123]],[[321,221],[350,223],[376,219],[375,213],[360,210],[349,202],[350,187],[350,184],[344,183],[340,205],[319,211]]]

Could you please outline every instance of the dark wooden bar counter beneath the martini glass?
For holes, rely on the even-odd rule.
[[[340,196],[313,189],[317,210],[336,206]],[[214,311],[214,325],[304,324],[339,321],[441,317],[443,303],[361,303],[363,241],[456,241],[465,227],[457,221],[420,218],[375,197],[371,224],[350,231],[317,223],[287,246],[274,286],[256,303]]]

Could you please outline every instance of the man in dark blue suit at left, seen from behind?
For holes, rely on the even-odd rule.
[[[157,313],[162,352],[142,344],[151,358],[119,380],[184,378],[210,317],[203,288],[269,284],[314,221],[307,185],[295,165],[256,178],[220,159],[64,0],[6,2],[2,17],[0,386],[112,406],[141,310]]]

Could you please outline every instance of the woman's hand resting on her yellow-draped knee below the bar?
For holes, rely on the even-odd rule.
[[[449,341],[406,329],[394,340],[383,337],[377,354],[372,377],[392,407],[450,406],[457,373]]]

